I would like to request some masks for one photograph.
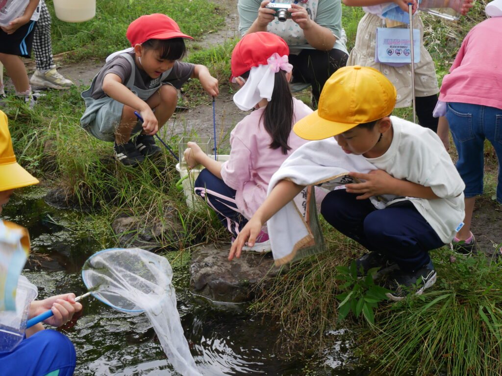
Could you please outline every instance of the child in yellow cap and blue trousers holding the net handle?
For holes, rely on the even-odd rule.
[[[0,215],[16,188],[39,181],[21,167],[14,155],[7,116],[0,111]],[[26,329],[26,320],[49,309],[53,316],[44,322],[61,326],[82,309],[75,294],[63,294],[30,301],[37,288],[21,271],[30,250],[28,232],[21,226],[0,219],[0,364],[2,376],[47,375],[69,376],[75,369],[75,348],[71,341],[55,330],[43,330],[41,323]],[[33,293],[29,293],[33,291]]]

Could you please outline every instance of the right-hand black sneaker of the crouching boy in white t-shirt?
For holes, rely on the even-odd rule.
[[[405,272],[400,270],[389,276],[387,287],[392,293],[387,293],[387,297],[393,301],[403,300],[410,292],[421,295],[436,282],[436,270],[432,260],[415,272]]]

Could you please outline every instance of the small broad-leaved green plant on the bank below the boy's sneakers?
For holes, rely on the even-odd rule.
[[[385,287],[376,285],[373,280],[373,275],[378,268],[370,269],[364,277],[357,276],[357,266],[355,261],[352,261],[349,267],[337,266],[338,279],[343,283],[340,285],[344,293],[337,295],[340,301],[338,304],[338,320],[343,320],[350,312],[355,317],[361,314],[370,323],[374,324],[374,310],[378,303],[387,300],[386,293],[391,292]],[[360,270],[362,273],[362,267]]]

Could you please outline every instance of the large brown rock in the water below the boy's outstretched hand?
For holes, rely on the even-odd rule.
[[[190,288],[194,294],[214,301],[240,303],[255,298],[258,289],[270,286],[284,267],[274,266],[272,253],[242,252],[228,261],[230,245],[214,245],[192,250]]]

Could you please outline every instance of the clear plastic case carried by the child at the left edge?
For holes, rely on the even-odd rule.
[[[18,280],[16,311],[0,312],[0,351],[12,351],[23,340],[31,302],[37,287],[24,276]]]

